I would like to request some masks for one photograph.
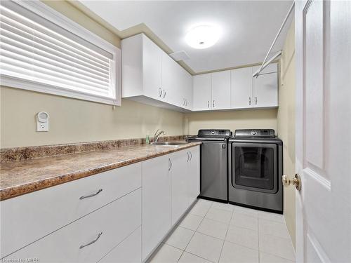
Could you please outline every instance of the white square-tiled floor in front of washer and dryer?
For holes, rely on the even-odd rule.
[[[283,215],[199,199],[151,263],[292,263]]]

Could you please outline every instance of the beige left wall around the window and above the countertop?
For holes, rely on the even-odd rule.
[[[119,37],[66,1],[44,1],[80,25],[119,47]],[[68,97],[1,86],[1,148],[145,137],[162,128],[183,134],[183,114],[122,100],[112,107]],[[35,131],[35,115],[50,114],[47,133]]]

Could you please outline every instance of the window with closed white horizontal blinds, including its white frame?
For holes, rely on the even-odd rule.
[[[119,104],[118,48],[43,5],[1,1],[1,84]]]

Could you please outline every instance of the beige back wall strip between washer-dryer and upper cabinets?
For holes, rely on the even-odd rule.
[[[204,128],[236,129],[272,128],[277,130],[277,109],[251,109],[228,112],[196,112],[185,114],[184,133],[197,134]]]

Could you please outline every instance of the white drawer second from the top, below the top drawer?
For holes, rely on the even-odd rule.
[[[41,263],[98,262],[140,224],[141,189],[137,189],[18,250],[8,259],[38,258]],[[96,240],[99,233],[102,234]],[[81,245],[86,246],[81,248]]]

